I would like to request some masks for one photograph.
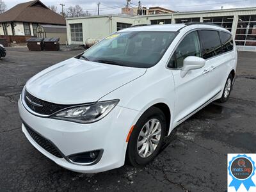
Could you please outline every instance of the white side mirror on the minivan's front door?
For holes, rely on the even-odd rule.
[[[185,77],[189,70],[202,68],[205,65],[205,60],[196,56],[188,56],[183,61],[183,68],[180,71],[180,76]]]

